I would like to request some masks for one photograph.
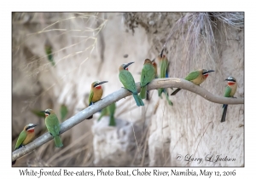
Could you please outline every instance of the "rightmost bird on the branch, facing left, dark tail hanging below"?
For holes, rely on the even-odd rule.
[[[228,85],[225,88],[224,97],[234,97],[234,95],[236,93],[236,89],[237,89],[236,78],[229,77],[225,80],[228,81]],[[224,104],[223,108],[224,108],[224,110],[223,110],[222,118],[221,118],[221,121],[220,121],[221,123],[225,122],[228,105]]]

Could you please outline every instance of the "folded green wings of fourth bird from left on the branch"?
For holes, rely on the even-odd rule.
[[[128,72],[127,70],[121,70],[119,72],[119,80],[124,85],[126,90],[137,94],[137,87],[131,72]]]

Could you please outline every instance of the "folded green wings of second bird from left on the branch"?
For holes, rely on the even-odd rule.
[[[49,114],[45,119],[45,125],[52,136],[57,136],[60,133],[60,123],[55,114]]]

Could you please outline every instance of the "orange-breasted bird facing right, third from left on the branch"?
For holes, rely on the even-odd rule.
[[[102,81],[102,82],[96,81],[90,85],[89,107],[96,101],[99,101],[102,99],[103,90],[102,90],[101,84],[105,84],[105,83],[108,83],[108,81]],[[89,118],[86,118],[86,119],[90,119],[92,117],[93,115],[91,115]]]

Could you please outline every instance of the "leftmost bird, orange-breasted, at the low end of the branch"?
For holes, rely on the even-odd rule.
[[[15,150],[18,148],[25,146],[29,142],[31,142],[35,137],[35,127],[38,126],[38,124],[27,124],[24,129],[20,132],[20,136],[18,137],[18,140],[16,141]],[[15,165],[16,160],[12,162],[12,165]]]

